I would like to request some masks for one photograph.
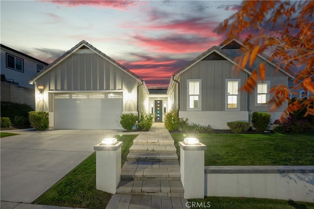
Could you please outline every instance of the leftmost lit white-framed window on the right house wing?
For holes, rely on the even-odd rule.
[[[188,109],[201,110],[201,80],[187,80]]]

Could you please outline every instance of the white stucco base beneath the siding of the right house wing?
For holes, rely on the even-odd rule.
[[[248,111],[179,111],[179,117],[187,118],[190,124],[210,125],[221,130],[230,129],[227,122],[249,121]]]

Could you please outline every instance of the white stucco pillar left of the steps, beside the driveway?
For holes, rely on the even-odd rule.
[[[122,142],[98,144],[96,150],[96,189],[115,194],[121,180]]]

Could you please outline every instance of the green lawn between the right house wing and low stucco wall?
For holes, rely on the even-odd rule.
[[[207,146],[205,165],[313,165],[313,134],[171,134],[179,141],[196,137]]]

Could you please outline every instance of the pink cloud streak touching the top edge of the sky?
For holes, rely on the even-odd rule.
[[[127,9],[138,4],[138,1],[132,0],[52,0],[51,2],[66,7],[94,6],[112,9]]]

